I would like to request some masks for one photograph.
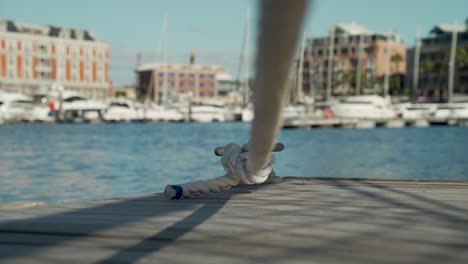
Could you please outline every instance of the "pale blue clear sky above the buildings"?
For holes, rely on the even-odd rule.
[[[237,76],[248,6],[252,9],[252,58],[257,1],[254,0],[0,0],[0,19],[50,24],[95,32],[110,45],[110,77],[114,85],[134,83],[137,54],[153,62],[163,17],[168,16],[171,63],[188,62],[196,50],[198,63],[223,65]],[[356,22],[374,32],[396,32],[414,45],[436,24],[464,23],[468,0],[316,0],[304,23],[307,37],[326,35],[337,23]]]

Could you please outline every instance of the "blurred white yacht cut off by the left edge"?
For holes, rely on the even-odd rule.
[[[0,123],[27,119],[32,98],[20,93],[0,92]]]

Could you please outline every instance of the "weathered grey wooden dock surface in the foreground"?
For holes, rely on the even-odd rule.
[[[0,209],[0,263],[468,263],[468,181],[288,177]]]

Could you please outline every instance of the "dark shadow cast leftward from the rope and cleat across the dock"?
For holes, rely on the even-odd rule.
[[[180,221],[175,222],[171,226],[163,229],[162,231],[157,232],[156,234],[153,234],[152,236],[142,240],[138,244],[135,244],[125,249],[121,249],[111,257],[99,261],[99,263],[115,263],[116,261],[121,261],[122,259],[125,259],[126,262],[128,261],[128,263],[133,263],[145,257],[147,254],[155,253],[161,250],[165,246],[176,241],[184,234],[192,231],[198,225],[210,219],[210,217],[212,217],[216,214],[216,212],[222,209],[231,198],[231,193],[226,194],[227,195],[225,195],[225,199],[222,199],[221,202],[216,204],[206,203],[204,202],[204,200],[200,200],[197,198],[193,198],[190,200],[167,200],[166,198],[162,198],[162,195],[160,195],[159,198],[161,199],[159,199],[159,201],[163,200],[163,203],[165,204],[162,206],[153,207],[151,206],[151,201],[155,200],[155,197],[148,196],[141,198],[129,198],[125,199],[124,201],[110,202],[94,207],[77,209],[58,214],[50,214],[42,217],[3,222],[0,223],[0,237],[4,237],[8,234],[59,236],[54,237],[55,239],[50,241],[42,241],[40,244],[37,245],[37,247],[19,247],[17,250],[10,252],[1,252],[2,250],[0,250],[0,262],[19,256],[33,256],[35,254],[35,251],[43,250],[45,247],[53,247],[55,245],[60,245],[71,240],[83,239],[87,236],[95,235],[97,232],[102,230],[110,230],[113,228],[118,228],[120,226],[125,226],[130,223],[141,222],[147,218],[157,218],[170,214],[175,214],[182,210],[194,210],[194,212],[190,215],[182,218]],[[117,216],[115,218],[112,218],[112,220],[106,221],[106,223],[102,224],[103,216],[106,214],[105,212],[124,212],[126,208],[133,206],[143,206],[147,208],[144,208],[145,210],[139,210],[138,213],[135,214],[125,214],[125,217]],[[0,213],[1,212],[2,211],[0,210]],[[99,223],[99,225],[88,225],[86,228],[83,228],[86,231],[83,231],[83,229],[77,231],[76,223],[69,223],[66,221],[66,219],[76,217],[77,214],[85,216],[87,218],[86,222],[91,221],[94,223]],[[45,225],[38,226],[37,223],[45,223]],[[51,226],[49,226],[48,223],[59,223],[59,228],[51,228]],[[117,237],[125,236],[125,234],[116,235]],[[155,241],[158,243],[154,243]],[[0,238],[0,245],[4,243],[5,242],[3,241],[3,239]],[[28,244],[28,242],[25,243]],[[31,245],[35,245],[34,241],[30,241],[29,243],[31,243]]]

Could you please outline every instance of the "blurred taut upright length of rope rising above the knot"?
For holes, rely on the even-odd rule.
[[[307,10],[307,0],[263,0],[257,41],[254,121],[247,169],[268,162],[281,127],[287,78]]]

